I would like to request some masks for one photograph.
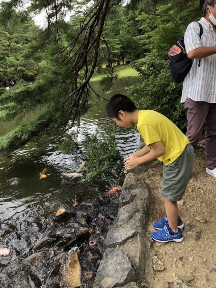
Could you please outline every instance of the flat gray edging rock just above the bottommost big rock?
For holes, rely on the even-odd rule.
[[[128,239],[135,236],[136,230],[129,228],[123,229],[121,227],[113,227],[106,235],[103,242],[103,252],[107,248],[113,248],[117,245],[123,245]]]

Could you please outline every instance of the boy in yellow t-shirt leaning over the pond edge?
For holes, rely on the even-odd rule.
[[[154,223],[157,232],[152,238],[158,242],[181,242],[184,223],[178,216],[177,201],[182,199],[194,165],[194,150],[188,138],[164,115],[152,110],[137,110],[126,96],[116,94],[106,105],[107,116],[118,126],[137,129],[146,146],[125,159],[125,168],[131,170],[154,159],[163,162],[161,197],[166,216]]]

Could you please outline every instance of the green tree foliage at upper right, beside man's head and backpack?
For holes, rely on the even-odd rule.
[[[158,1],[156,6],[152,3],[151,7],[145,6],[137,17],[143,30],[138,39],[154,57],[163,58],[175,39],[183,37],[188,24],[201,18],[199,1],[165,0]]]

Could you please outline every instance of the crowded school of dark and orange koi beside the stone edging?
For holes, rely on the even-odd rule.
[[[46,220],[0,221],[0,287],[92,288],[121,187],[110,191],[98,198],[77,194]]]

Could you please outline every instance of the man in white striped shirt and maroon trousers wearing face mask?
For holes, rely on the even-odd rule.
[[[194,150],[204,125],[206,172],[216,178],[216,0],[201,0],[200,4],[201,39],[197,22],[190,23],[185,33],[187,56],[194,61],[183,83],[181,102],[185,102],[188,120],[186,136]]]

